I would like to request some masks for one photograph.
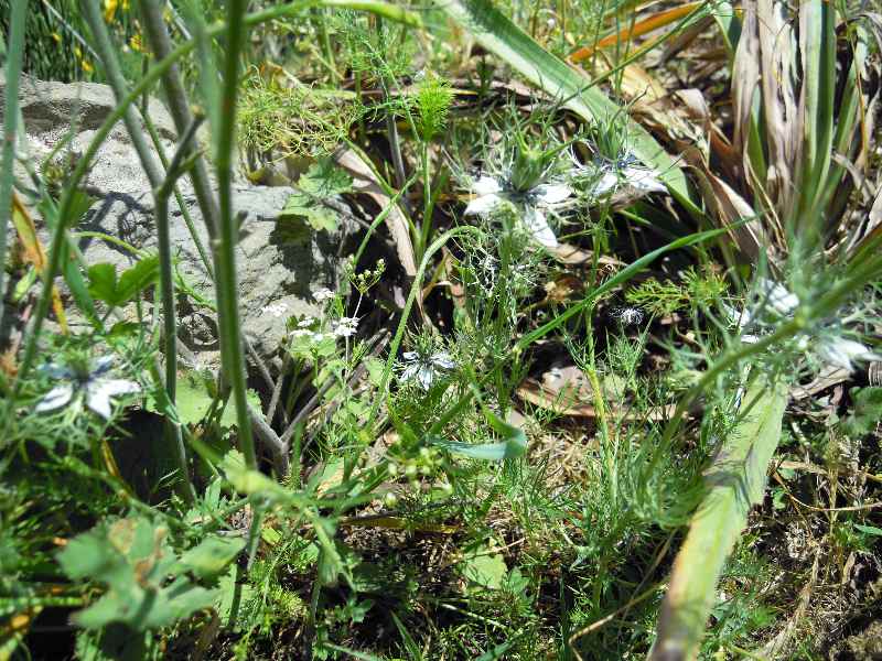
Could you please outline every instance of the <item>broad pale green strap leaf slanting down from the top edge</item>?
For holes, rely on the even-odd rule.
[[[587,121],[610,119],[622,112],[584,74],[542,48],[526,32],[496,10],[488,0],[437,0],[437,7],[467,30],[487,51],[508,63],[527,80],[563,102]],[[628,144],[639,159],[662,175],[690,214],[701,209],[692,202],[686,175],[675,159],[637,122],[628,122]]]

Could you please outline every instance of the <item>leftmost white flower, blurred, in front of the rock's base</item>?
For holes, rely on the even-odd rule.
[[[114,359],[110,356],[98,358],[90,367],[85,368],[62,367],[54,362],[43,366],[41,371],[52,378],[65,379],[66,382],[50,390],[37,402],[34,411],[47,413],[57,411],[82,395],[86,405],[105,420],[112,413],[111,398],[120,394],[140,392],[141,387],[135,381],[126,379],[110,379],[106,375],[110,370]]]

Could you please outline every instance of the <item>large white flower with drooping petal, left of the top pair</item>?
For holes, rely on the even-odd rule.
[[[545,212],[572,195],[566,184],[539,184],[525,193],[510,191],[492,176],[481,176],[472,186],[476,197],[465,207],[465,215],[488,214],[503,202],[513,204],[521,214],[524,225],[539,243],[557,248],[558,239],[548,226]]]

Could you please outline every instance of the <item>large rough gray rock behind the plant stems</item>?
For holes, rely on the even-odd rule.
[[[0,79],[0,97],[2,97]],[[73,130],[69,151],[73,159],[82,155],[97,127],[116,104],[109,87],[96,84],[65,85],[26,79],[22,85],[21,109],[28,133],[32,162],[39,163]],[[150,101],[150,116],[161,136],[166,154],[174,150],[174,126],[162,105]],[[73,129],[72,129],[73,127]],[[125,127],[118,123],[101,145],[90,166],[88,189],[97,202],[74,231],[103,232],[122,239],[138,250],[157,250],[153,198],[141,171],[138,155]],[[19,173],[21,175],[21,173]],[[20,177],[21,178],[21,177]],[[26,177],[25,182],[26,182]],[[191,213],[196,235],[211,260],[207,231],[189,181],[179,181],[184,205]],[[277,219],[291,188],[254,186],[237,183],[234,206],[244,213],[236,249],[239,284],[239,310],[243,328],[265,360],[271,359],[284,335],[290,315],[321,313],[311,292],[334,286],[343,245],[341,230],[332,236],[315,234],[289,240],[277,231]],[[34,215],[35,212],[34,212]],[[42,232],[44,239],[46,232]],[[214,302],[214,286],[196,243],[184,223],[183,214],[172,201],[171,240],[176,268],[184,281],[204,299]],[[117,271],[130,267],[135,256],[120,246],[88,237],[79,247],[87,263],[110,262]],[[179,296],[180,337],[203,365],[219,362],[217,324],[212,311],[191,305],[192,297]],[[68,306],[68,311],[71,306]],[[76,327],[76,315],[73,315]]]

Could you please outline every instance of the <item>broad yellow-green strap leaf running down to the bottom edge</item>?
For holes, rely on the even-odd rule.
[[[706,474],[707,495],[674,561],[650,660],[697,657],[725,560],[751,506],[763,499],[786,404],[786,388],[764,378],[757,378],[744,395],[744,416]]]

